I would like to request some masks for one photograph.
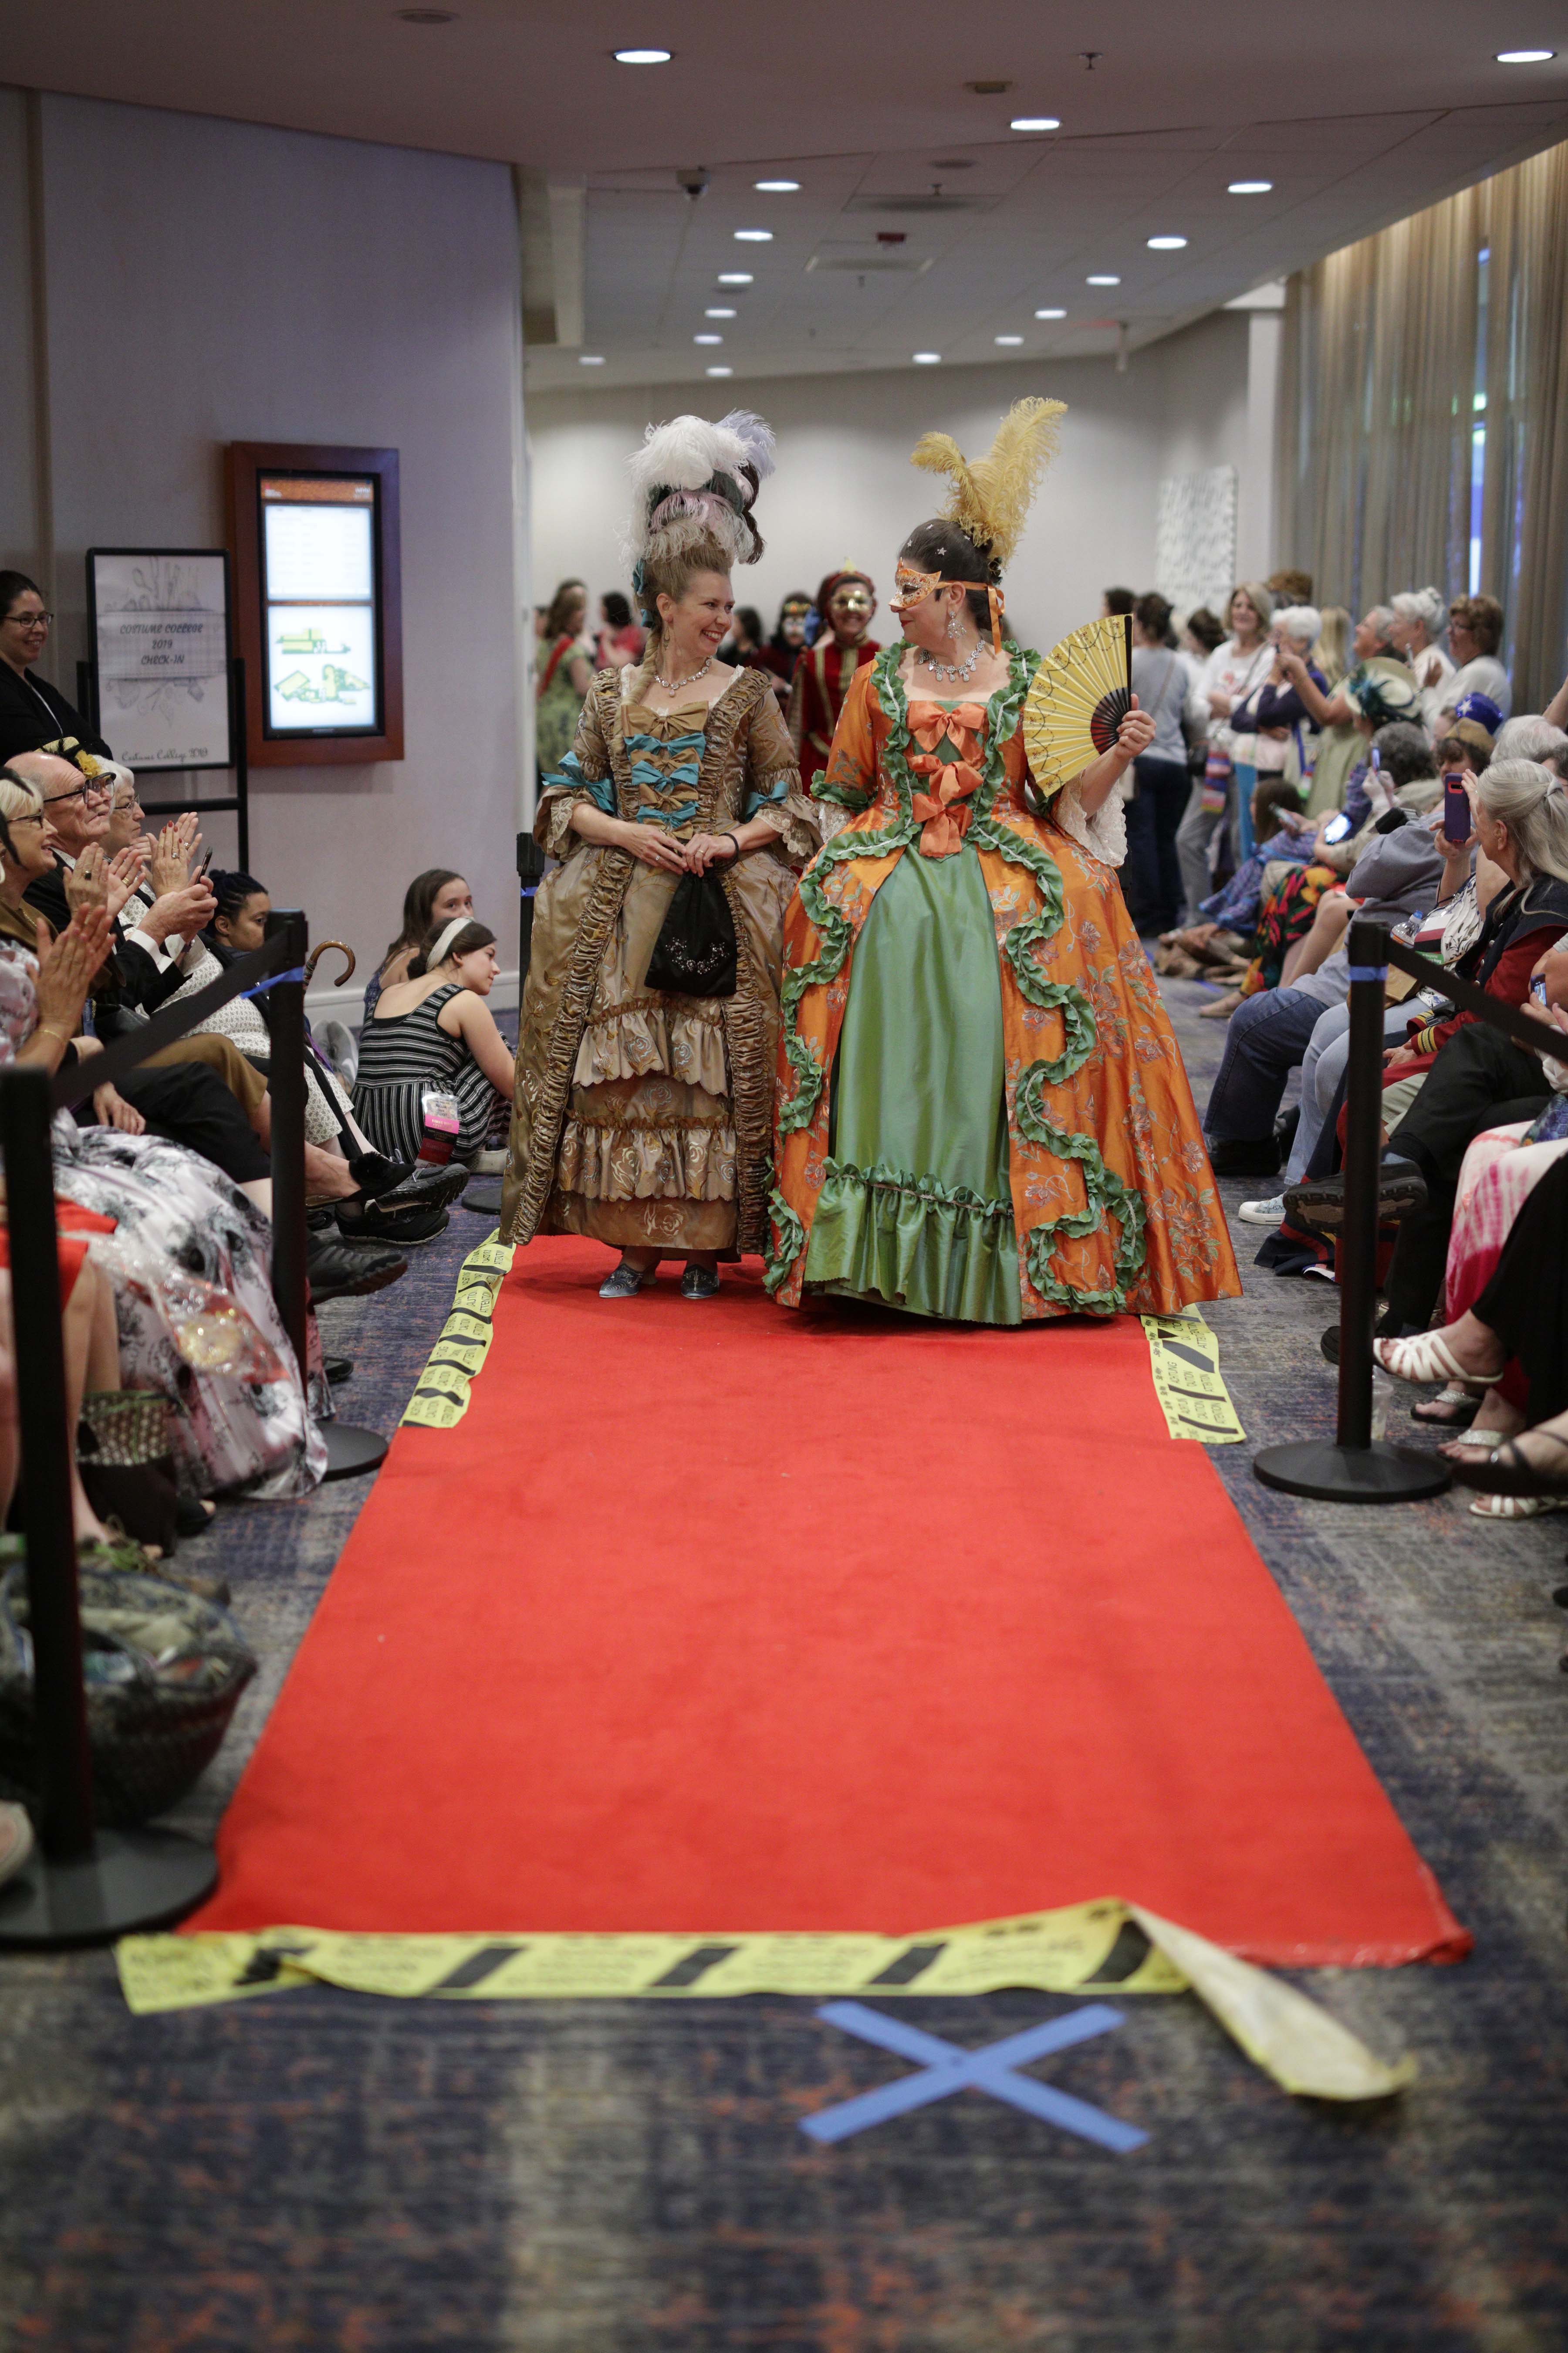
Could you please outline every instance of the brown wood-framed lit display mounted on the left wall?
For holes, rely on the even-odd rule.
[[[249,758],[402,760],[397,452],[230,442],[226,473]]]

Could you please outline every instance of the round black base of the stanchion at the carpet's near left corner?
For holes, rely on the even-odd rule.
[[[219,1885],[212,1847],[179,1831],[99,1831],[92,1854],[52,1864],[33,1854],[0,1887],[0,1951],[110,1944],[169,1927]]]

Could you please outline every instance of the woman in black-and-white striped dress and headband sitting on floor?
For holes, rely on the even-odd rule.
[[[454,915],[430,934],[409,979],[381,991],[360,1033],[355,1118],[383,1153],[414,1160],[425,1139],[423,1099],[444,1094],[458,1111],[456,1158],[501,1167],[515,1056],[484,1002],[494,984],[496,934]],[[494,1160],[482,1158],[487,1146]]]

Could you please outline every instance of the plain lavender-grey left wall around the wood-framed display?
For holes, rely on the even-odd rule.
[[[24,299],[24,101],[0,99],[0,256]],[[515,962],[520,285],[510,169],[153,108],[42,96],[54,598],[45,673],[75,699],[85,548],[221,546],[223,442],[402,456],[407,758],[252,776],[252,868],[362,962],[421,866],[473,878]],[[26,381],[26,367],[21,369]],[[12,504],[7,560],[47,567]],[[146,779],[160,798],[174,779]],[[216,776],[205,791],[221,791]],[[233,864],[233,819],[214,819]]]

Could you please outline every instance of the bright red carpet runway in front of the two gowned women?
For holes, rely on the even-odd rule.
[[[190,1927],[914,1932],[1126,1897],[1458,1958],[1133,1318],[602,1304],[517,1254],[397,1433]]]

